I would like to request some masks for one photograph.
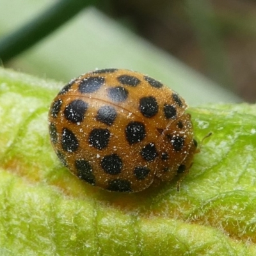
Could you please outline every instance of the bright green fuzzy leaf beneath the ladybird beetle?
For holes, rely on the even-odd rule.
[[[61,166],[47,113],[63,84],[0,69],[1,255],[255,255],[256,107],[189,108],[200,153],[177,180],[110,193]]]

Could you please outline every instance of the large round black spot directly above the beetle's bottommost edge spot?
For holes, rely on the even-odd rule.
[[[104,172],[111,175],[119,174],[123,166],[122,159],[117,154],[104,156],[100,164]]]

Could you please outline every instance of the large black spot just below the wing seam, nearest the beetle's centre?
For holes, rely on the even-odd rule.
[[[145,125],[136,121],[129,122],[125,127],[125,136],[130,145],[140,142],[146,136]]]

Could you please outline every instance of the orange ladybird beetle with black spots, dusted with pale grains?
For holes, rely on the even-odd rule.
[[[80,179],[138,192],[188,173],[196,153],[186,102],[155,79],[108,68],[73,79],[49,111],[51,143]]]

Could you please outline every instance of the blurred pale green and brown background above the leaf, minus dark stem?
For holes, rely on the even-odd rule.
[[[0,53],[4,36],[61,2],[1,0]],[[129,68],[161,80],[193,106],[255,102],[255,1],[91,0],[84,6],[2,66],[63,83],[95,68]]]

